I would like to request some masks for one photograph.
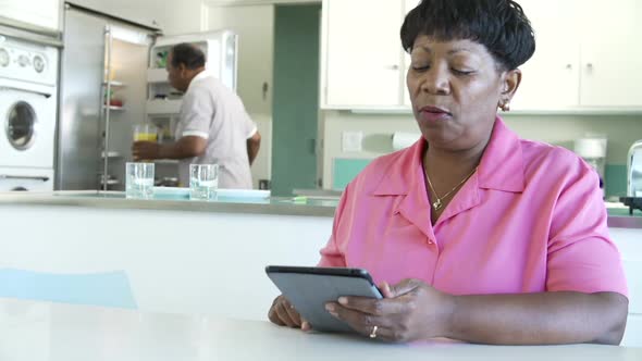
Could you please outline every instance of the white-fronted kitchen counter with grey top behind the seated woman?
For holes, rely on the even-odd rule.
[[[3,194],[0,271],[69,276],[70,283],[96,278],[89,304],[118,296],[146,312],[266,320],[279,295],[266,265],[317,264],[336,204],[313,196],[205,202],[134,200],[122,192]],[[629,283],[624,345],[642,346],[642,213],[609,210],[608,223]],[[116,289],[128,290],[123,295],[102,290],[114,273]],[[104,302],[95,298],[101,296],[96,287]]]

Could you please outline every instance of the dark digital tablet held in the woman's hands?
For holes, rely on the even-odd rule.
[[[382,298],[368,271],[361,269],[269,265],[266,273],[316,331],[354,332],[325,310],[325,303],[341,296]]]

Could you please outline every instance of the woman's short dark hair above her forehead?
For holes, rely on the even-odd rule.
[[[402,25],[404,50],[410,52],[421,35],[479,42],[505,70],[517,69],[535,52],[531,24],[511,0],[422,0]]]

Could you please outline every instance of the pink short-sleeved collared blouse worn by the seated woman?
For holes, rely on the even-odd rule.
[[[320,266],[419,278],[454,295],[627,295],[597,174],[575,153],[522,140],[497,119],[477,173],[431,224],[420,139],[345,189]]]

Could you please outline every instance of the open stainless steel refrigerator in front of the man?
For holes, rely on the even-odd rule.
[[[237,35],[164,37],[158,28],[65,3],[57,132],[57,190],[123,190],[134,126],[152,124],[173,141],[182,94],[168,82],[172,46],[203,50],[208,71],[236,90]],[[156,161],[156,180],[175,179],[176,161]]]

